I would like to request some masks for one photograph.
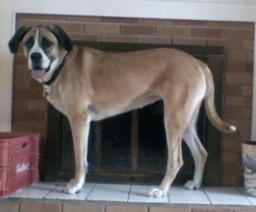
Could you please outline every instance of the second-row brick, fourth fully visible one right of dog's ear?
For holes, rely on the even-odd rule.
[[[223,38],[225,36],[224,29],[211,28],[192,28],[191,36],[198,38]]]

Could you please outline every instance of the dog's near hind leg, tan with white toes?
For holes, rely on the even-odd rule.
[[[187,110],[184,100],[181,103],[180,98],[176,99],[177,101],[164,101],[164,126],[168,147],[168,162],[166,174],[161,185],[159,188],[152,188],[148,193],[150,197],[163,197],[166,195],[172,185],[173,179],[183,165],[181,142],[190,120],[189,117],[191,117],[191,111]]]

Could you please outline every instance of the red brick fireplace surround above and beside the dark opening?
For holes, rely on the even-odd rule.
[[[79,41],[224,46],[221,117],[239,130],[222,134],[222,183],[241,185],[240,144],[250,139],[252,123],[254,23],[17,15],[17,27],[47,24],[58,24],[72,40]],[[30,77],[21,50],[15,57],[14,70],[13,131],[42,133],[41,156],[44,158],[47,103],[42,98],[42,86]]]

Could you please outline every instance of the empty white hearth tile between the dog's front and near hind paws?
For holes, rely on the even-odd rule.
[[[127,202],[129,190],[130,185],[97,184],[87,200]]]

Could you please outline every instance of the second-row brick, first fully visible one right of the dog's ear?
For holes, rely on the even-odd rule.
[[[88,23],[85,24],[86,33],[119,34],[119,24]]]

